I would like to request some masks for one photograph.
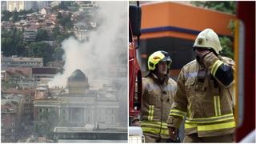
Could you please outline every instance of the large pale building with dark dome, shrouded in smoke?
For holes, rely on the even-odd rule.
[[[90,90],[89,78],[75,70],[67,79],[66,90],[46,88],[37,88],[47,93],[41,94],[44,97],[35,96],[35,123],[42,122],[44,114],[53,114],[58,119],[56,126],[120,127],[120,105],[114,86],[104,84],[102,89]]]

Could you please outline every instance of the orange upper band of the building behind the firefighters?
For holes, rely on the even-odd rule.
[[[194,40],[196,33],[207,27],[212,28],[218,34],[230,36],[231,31],[227,28],[230,19],[236,19],[236,16],[178,2],[145,4],[142,5],[142,32],[145,29],[152,30],[166,26],[170,26],[171,30],[163,29],[154,33],[142,34],[141,38],[171,36]],[[178,28],[186,30],[178,31]],[[186,31],[192,33],[186,33]]]

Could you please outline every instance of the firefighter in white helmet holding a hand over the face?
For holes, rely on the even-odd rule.
[[[222,50],[214,30],[194,42],[196,59],[182,67],[167,126],[170,138],[185,121],[184,142],[234,142],[234,61]]]

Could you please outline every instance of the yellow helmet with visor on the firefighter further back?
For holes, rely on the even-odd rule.
[[[170,59],[170,54],[163,50],[159,50],[151,54],[147,61],[147,66],[149,70],[155,70],[156,65],[159,62],[167,62],[167,67],[168,69],[170,69],[170,64],[172,62],[172,60]]]

